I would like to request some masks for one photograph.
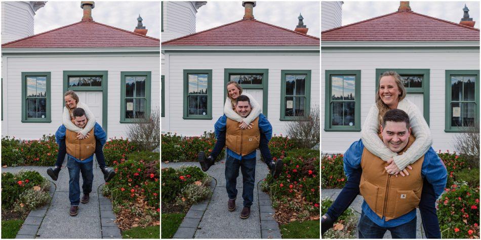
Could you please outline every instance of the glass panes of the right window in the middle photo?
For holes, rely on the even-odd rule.
[[[306,74],[286,74],[284,97],[286,117],[305,117]]]

